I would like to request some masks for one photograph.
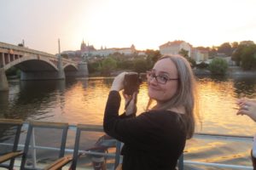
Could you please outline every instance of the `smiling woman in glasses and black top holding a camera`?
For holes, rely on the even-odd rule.
[[[160,58],[147,76],[149,102],[147,111],[139,116],[131,109],[119,116],[119,91],[124,88],[125,73],[115,77],[103,127],[108,135],[125,144],[121,152],[123,170],[175,169],[186,139],[195,130],[195,78],[181,56]],[[136,97],[133,94],[128,108],[135,107]],[[149,109],[152,100],[156,105]]]

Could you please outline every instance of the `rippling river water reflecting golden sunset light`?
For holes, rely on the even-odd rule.
[[[112,82],[113,77],[66,81],[12,80],[9,81],[9,92],[0,93],[0,117],[102,125]],[[236,99],[256,98],[255,76],[197,77],[197,82],[200,116],[197,117],[196,132],[247,136],[256,133],[255,122],[247,116],[236,116]],[[147,102],[147,84],[143,82],[138,94],[138,113],[144,111]],[[121,105],[120,112],[123,101]],[[251,145],[252,142],[190,139],[185,148],[185,160],[250,166]]]

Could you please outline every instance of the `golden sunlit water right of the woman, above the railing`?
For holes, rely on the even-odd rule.
[[[236,99],[255,97],[252,77],[200,77],[199,110],[202,129],[199,132],[253,135],[254,122],[247,116],[236,116]]]

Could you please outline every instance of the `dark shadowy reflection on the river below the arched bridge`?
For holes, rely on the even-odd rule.
[[[1,100],[8,101],[3,103],[0,115],[26,120],[44,114],[65,93],[65,83],[64,80],[10,82],[9,99],[0,95]]]

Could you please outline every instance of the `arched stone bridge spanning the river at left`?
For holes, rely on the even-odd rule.
[[[65,79],[66,77],[86,77],[86,62],[64,59],[30,48],[0,42],[0,91],[8,90],[5,75],[12,66],[20,69],[20,80]]]

